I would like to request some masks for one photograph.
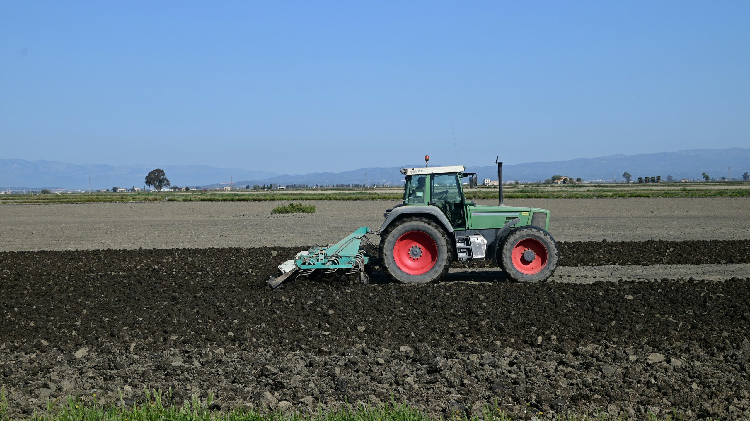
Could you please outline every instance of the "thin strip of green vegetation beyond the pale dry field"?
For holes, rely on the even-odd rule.
[[[466,199],[497,199],[495,188],[464,190]],[[637,197],[750,197],[750,183],[731,184],[577,184],[555,186],[504,187],[505,199],[578,199],[578,198],[637,198]],[[1,195],[0,204],[10,203],[103,203],[103,202],[224,202],[224,201],[309,201],[309,200],[401,200],[401,188],[375,190],[325,189],[325,190],[274,190],[256,193],[240,190],[234,192],[170,192],[170,193],[62,193]]]

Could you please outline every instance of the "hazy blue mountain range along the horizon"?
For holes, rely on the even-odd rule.
[[[404,166],[422,166],[414,164]],[[437,164],[436,164],[437,165]],[[543,181],[552,175],[567,175],[584,180],[611,180],[612,172],[622,180],[622,173],[629,172],[633,178],[661,175],[666,178],[700,178],[703,172],[712,177],[727,175],[727,166],[732,169],[732,178],[739,179],[743,172],[750,172],[750,149],[690,149],[657,154],[610,155],[608,157],[579,158],[576,160],[521,163],[503,166],[505,181]],[[363,184],[367,173],[368,184],[401,184],[404,176],[401,167],[368,167],[347,172],[313,172],[305,175],[278,175],[267,171],[246,169],[221,169],[213,166],[110,166],[74,165],[57,161],[0,160],[0,190],[38,190],[61,187],[66,189],[88,189],[89,177],[92,188],[142,187],[145,175],[154,168],[161,168],[174,184],[190,187],[222,187],[229,184],[229,175],[236,186],[254,184]],[[497,178],[497,167],[469,166],[468,172],[478,177]]]

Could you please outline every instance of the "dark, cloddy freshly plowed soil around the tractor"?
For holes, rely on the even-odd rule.
[[[561,243],[561,264],[750,261],[750,241]],[[750,278],[265,281],[298,248],[0,253],[0,385],[10,411],[143,388],[222,408],[497,399],[512,414],[750,414]],[[750,274],[748,274],[750,276]],[[455,276],[453,276],[455,279]],[[455,402],[455,403],[450,403]]]

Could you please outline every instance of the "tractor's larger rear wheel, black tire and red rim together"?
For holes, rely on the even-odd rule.
[[[393,222],[380,239],[380,257],[386,272],[405,284],[442,279],[451,266],[452,254],[443,227],[419,216]]]

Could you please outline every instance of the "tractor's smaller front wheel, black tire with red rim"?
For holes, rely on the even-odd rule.
[[[543,282],[557,268],[557,243],[547,231],[535,226],[514,229],[502,239],[498,249],[499,266],[514,281]],[[531,261],[523,257],[522,250],[526,249],[533,251],[528,254]]]

